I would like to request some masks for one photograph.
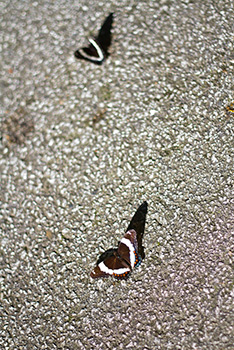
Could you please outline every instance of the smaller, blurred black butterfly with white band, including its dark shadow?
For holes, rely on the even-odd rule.
[[[74,55],[76,58],[84,59],[95,64],[102,64],[109,56],[108,48],[111,44],[111,28],[113,23],[113,13],[105,19],[98,35],[89,39],[89,46],[78,49]]]

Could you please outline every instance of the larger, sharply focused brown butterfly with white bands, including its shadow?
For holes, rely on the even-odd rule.
[[[134,214],[118,248],[108,249],[101,254],[90,274],[92,278],[113,276],[117,279],[126,279],[132,270],[141,264],[145,257],[142,237],[146,214],[147,202],[144,202]]]

